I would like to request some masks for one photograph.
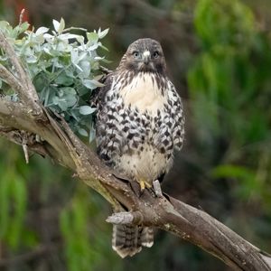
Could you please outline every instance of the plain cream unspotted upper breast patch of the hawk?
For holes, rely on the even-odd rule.
[[[167,102],[152,73],[139,73],[125,86],[119,86],[119,95],[125,107],[137,108],[140,113],[157,113]]]

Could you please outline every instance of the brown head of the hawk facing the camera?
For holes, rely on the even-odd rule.
[[[166,66],[160,43],[152,39],[139,39],[133,42],[120,61],[119,68],[164,74]]]

